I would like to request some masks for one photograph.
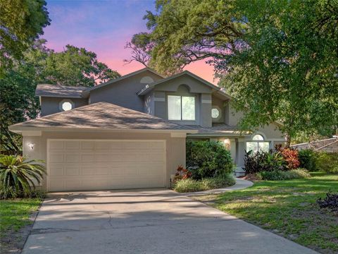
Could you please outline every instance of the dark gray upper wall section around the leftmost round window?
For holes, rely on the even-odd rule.
[[[82,107],[88,104],[88,99],[63,98],[63,97],[41,97],[41,116],[60,112],[60,103],[63,100],[70,100],[75,107]]]

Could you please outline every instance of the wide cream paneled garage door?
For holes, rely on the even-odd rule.
[[[48,140],[49,191],[165,186],[164,140]]]

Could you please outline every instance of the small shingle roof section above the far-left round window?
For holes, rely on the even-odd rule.
[[[65,86],[65,85],[50,85],[50,84],[39,84],[35,90],[35,95],[46,96],[46,97],[68,97],[68,98],[81,98],[82,92],[87,87],[82,86]]]

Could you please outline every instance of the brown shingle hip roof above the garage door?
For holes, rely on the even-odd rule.
[[[86,128],[107,130],[176,130],[196,132],[188,126],[165,121],[132,109],[126,109],[108,102],[98,102],[69,111],[44,116],[39,119],[16,123],[11,131],[30,128]]]

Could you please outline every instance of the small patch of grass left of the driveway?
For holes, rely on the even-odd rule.
[[[30,214],[37,211],[41,202],[38,198],[0,200],[0,252],[15,247],[16,241],[23,241],[18,231],[32,223]]]

